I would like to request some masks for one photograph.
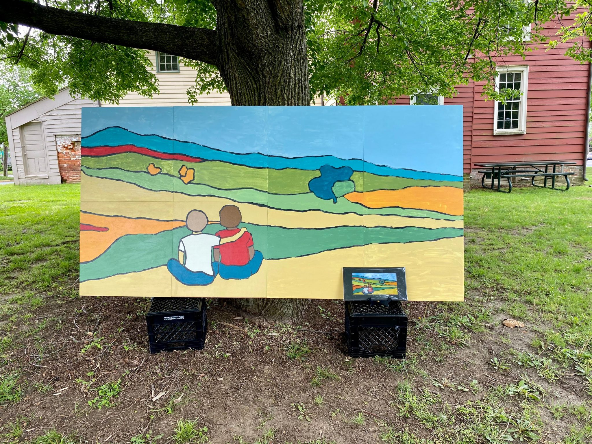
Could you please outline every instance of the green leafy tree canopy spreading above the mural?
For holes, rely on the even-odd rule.
[[[418,91],[452,95],[468,77],[489,81],[486,91],[495,96],[494,57],[525,54],[528,43],[548,44],[543,24],[570,14],[575,24],[564,27],[551,46],[571,41],[570,56],[581,62],[592,56],[585,45],[588,11],[576,11],[589,6],[582,0],[302,1],[53,0],[44,7],[43,0],[4,0],[0,58],[30,69],[41,94],[53,95],[67,83],[72,94],[117,102],[129,91],[157,92],[146,50],[159,50],[197,70],[188,90],[189,101],[195,101],[229,87],[220,60],[228,39],[220,38],[220,28],[230,25],[221,14],[242,21],[238,38],[265,41],[264,18],[263,31],[250,29],[258,26],[253,11],[269,13],[281,34],[294,31],[298,9],[310,96],[343,96],[349,104],[377,104]]]

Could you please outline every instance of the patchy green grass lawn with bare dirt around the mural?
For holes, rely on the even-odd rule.
[[[211,301],[204,350],[150,355],[146,300],[77,296],[78,200],[0,187],[0,442],[592,441],[590,187],[465,194],[465,302],[407,303],[402,361],[343,354],[341,301]]]

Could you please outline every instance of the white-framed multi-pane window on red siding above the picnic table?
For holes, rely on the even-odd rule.
[[[496,101],[494,134],[525,133],[527,67],[498,72],[497,90],[510,90],[506,103]]]

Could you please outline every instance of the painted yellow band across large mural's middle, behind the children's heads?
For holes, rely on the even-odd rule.
[[[94,214],[122,215],[126,217],[163,218],[169,214],[172,205],[171,218],[184,220],[189,210],[201,210],[210,220],[218,220],[220,208],[235,202],[220,197],[196,197],[187,200],[176,200],[175,193],[169,191],[147,191],[137,185],[125,182],[97,179],[81,175],[82,187],[92,188],[92,201],[81,201],[81,210]],[[115,190],[117,192],[115,193]],[[83,194],[84,195],[84,194]],[[126,195],[128,201],[122,205],[121,201],[114,201],[114,195]],[[166,211],[164,207],[168,207]],[[364,215],[358,214],[329,214],[323,211],[286,211],[274,208],[259,207],[253,204],[240,204],[243,221],[258,225],[274,225],[286,228],[327,228],[335,226],[363,226],[366,227],[423,227],[423,228],[462,228],[463,221],[435,220],[430,218],[410,218],[394,215]]]

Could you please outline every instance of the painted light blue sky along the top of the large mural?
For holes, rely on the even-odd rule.
[[[462,175],[458,105],[83,108],[83,136],[109,126],[234,153],[333,155]]]

